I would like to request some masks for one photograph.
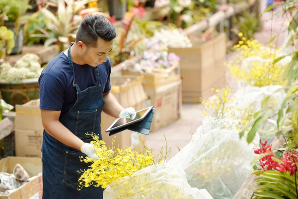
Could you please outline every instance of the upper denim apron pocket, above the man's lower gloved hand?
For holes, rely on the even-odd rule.
[[[80,139],[90,138],[94,132],[95,122],[97,116],[97,109],[93,110],[79,110],[77,111],[77,119],[75,125],[75,135]]]

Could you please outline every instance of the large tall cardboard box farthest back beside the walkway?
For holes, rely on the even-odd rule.
[[[225,37],[222,33],[204,43],[193,42],[192,48],[169,48],[180,57],[182,102],[207,100],[213,87],[224,87]]]

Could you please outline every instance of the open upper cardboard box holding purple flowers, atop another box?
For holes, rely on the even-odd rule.
[[[134,67],[134,66],[131,66]],[[149,74],[141,73],[132,73],[129,71],[129,68],[126,68],[123,71],[123,75],[134,75],[134,76],[143,76],[143,85],[148,88],[156,88],[162,85],[169,84],[171,82],[176,82],[180,80],[180,65],[179,62],[175,62],[173,66],[168,69],[159,69],[159,68],[148,68],[143,67],[145,71],[151,71]]]

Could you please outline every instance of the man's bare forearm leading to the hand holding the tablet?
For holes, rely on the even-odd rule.
[[[120,112],[124,110],[122,105],[120,105],[119,101],[115,98],[115,96],[112,93],[104,95],[103,99],[105,100],[105,105],[102,108],[103,112],[114,118],[118,118]]]

